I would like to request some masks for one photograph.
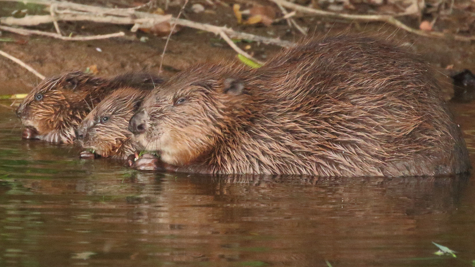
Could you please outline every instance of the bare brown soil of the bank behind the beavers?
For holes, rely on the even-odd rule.
[[[110,5],[110,2],[104,1],[80,2]],[[195,2],[203,3],[199,0],[190,1],[188,6]],[[120,4],[126,5],[126,3]],[[203,5],[205,12],[195,14],[190,9],[185,9],[183,18],[219,26],[226,25],[236,31],[267,37],[280,37],[290,41],[298,41],[304,38],[298,31],[289,27],[285,20],[269,27],[238,25],[233,13],[232,3],[220,2],[220,4]],[[9,12],[11,13],[11,9],[14,8],[14,5],[3,8],[0,11],[0,16],[9,16]],[[179,8],[179,6],[171,7],[167,13],[176,16]],[[364,34],[378,38],[388,38],[398,45],[408,47],[415,53],[419,53],[436,70],[447,98],[450,97],[453,90],[451,80],[447,77],[447,74],[463,69],[475,69],[473,62],[475,45],[468,42],[417,36],[382,23],[325,21],[322,18],[315,17],[298,18],[297,21],[301,26],[309,28],[309,37],[318,38],[342,33]],[[417,28],[417,20],[406,23],[412,23],[411,26]],[[75,35],[98,35],[123,31],[126,36],[94,41],[64,41],[45,36],[19,36],[2,32],[1,38],[12,38],[15,41],[1,41],[0,50],[18,57],[45,76],[73,70],[86,71],[92,65],[97,66],[98,75],[104,76],[125,71],[159,72],[166,37],[153,36],[142,32],[131,33],[129,31],[131,26],[90,22],[60,22],[59,25],[65,35],[70,33]],[[35,29],[55,32],[53,25],[42,25]],[[143,42],[141,41],[142,37],[148,39]],[[280,47],[259,43],[240,42],[238,46],[261,61],[265,61],[269,56],[281,50]],[[169,40],[163,57],[162,75],[165,78],[169,77],[198,62],[237,60],[236,55],[237,53],[224,41],[220,40],[219,36],[191,28],[182,28]],[[0,56],[0,94],[27,93],[38,82],[39,78],[34,74],[13,61]]]

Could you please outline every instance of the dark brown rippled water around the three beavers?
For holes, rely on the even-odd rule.
[[[7,105],[7,103],[4,103]],[[471,111],[473,110],[473,111]],[[475,105],[455,107],[475,153]],[[20,139],[0,107],[0,267],[471,266],[474,177],[141,173]],[[433,254],[432,242],[457,251]]]

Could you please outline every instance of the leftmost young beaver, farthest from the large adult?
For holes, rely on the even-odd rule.
[[[160,77],[146,72],[102,78],[73,71],[47,78],[17,109],[17,116],[25,126],[22,137],[73,143],[74,129],[111,91],[124,86],[149,90],[162,82]]]

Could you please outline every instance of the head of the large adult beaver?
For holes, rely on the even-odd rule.
[[[234,70],[233,70],[234,69]],[[236,78],[229,78],[231,74]],[[130,120],[141,148],[181,166],[204,156],[232,127],[248,95],[233,66],[200,65],[154,89]]]

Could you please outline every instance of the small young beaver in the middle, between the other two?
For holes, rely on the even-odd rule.
[[[128,122],[149,91],[117,89],[92,109],[77,127],[76,140],[96,155],[127,159],[137,149],[128,131]],[[81,158],[95,158],[87,151]]]

